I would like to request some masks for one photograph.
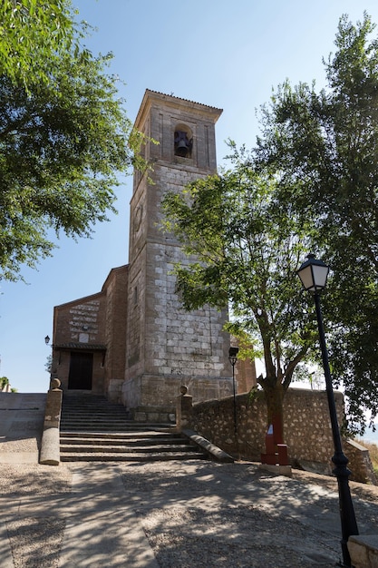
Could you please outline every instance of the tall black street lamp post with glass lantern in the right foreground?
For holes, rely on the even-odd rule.
[[[342,529],[341,547],[343,553],[343,565],[351,566],[347,542],[349,536],[358,534],[357,522],[355,520],[354,505],[349,488],[350,470],[347,468],[348,458],[343,453],[341,444],[340,428],[337,422],[336,406],[334,403],[334,389],[332,386],[331,372],[329,368],[328,352],[325,345],[325,329],[323,325],[322,311],[320,308],[320,292],[325,289],[329,267],[322,261],[316,260],[314,254],[309,254],[302,266],[298,269],[298,276],[306,291],[314,295],[315,310],[317,318],[317,328],[319,330],[320,348],[322,351],[322,361],[325,370],[325,388],[328,398],[329,414],[331,417],[332,435],[334,438],[334,456],[332,461],[335,465],[333,473],[337,477],[339,490],[339,507]]]

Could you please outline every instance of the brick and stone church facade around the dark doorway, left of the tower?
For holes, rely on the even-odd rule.
[[[128,266],[111,269],[102,291],[54,308],[52,377],[68,390],[73,352],[92,353],[92,392],[121,400]]]

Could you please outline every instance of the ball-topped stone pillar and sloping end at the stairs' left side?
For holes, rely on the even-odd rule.
[[[44,410],[44,434],[42,436],[39,463],[43,465],[59,465],[61,454],[59,449],[60,422],[63,391],[59,388],[61,381],[53,378],[47,393]]]

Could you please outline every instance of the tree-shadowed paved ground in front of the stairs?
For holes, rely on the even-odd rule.
[[[1,568],[296,568],[340,560],[336,481],[256,464],[0,465]],[[378,488],[351,483],[360,534]]]

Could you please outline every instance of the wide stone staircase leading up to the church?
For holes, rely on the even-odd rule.
[[[62,462],[130,462],[207,459],[171,424],[129,419],[125,407],[96,395],[63,396]]]

